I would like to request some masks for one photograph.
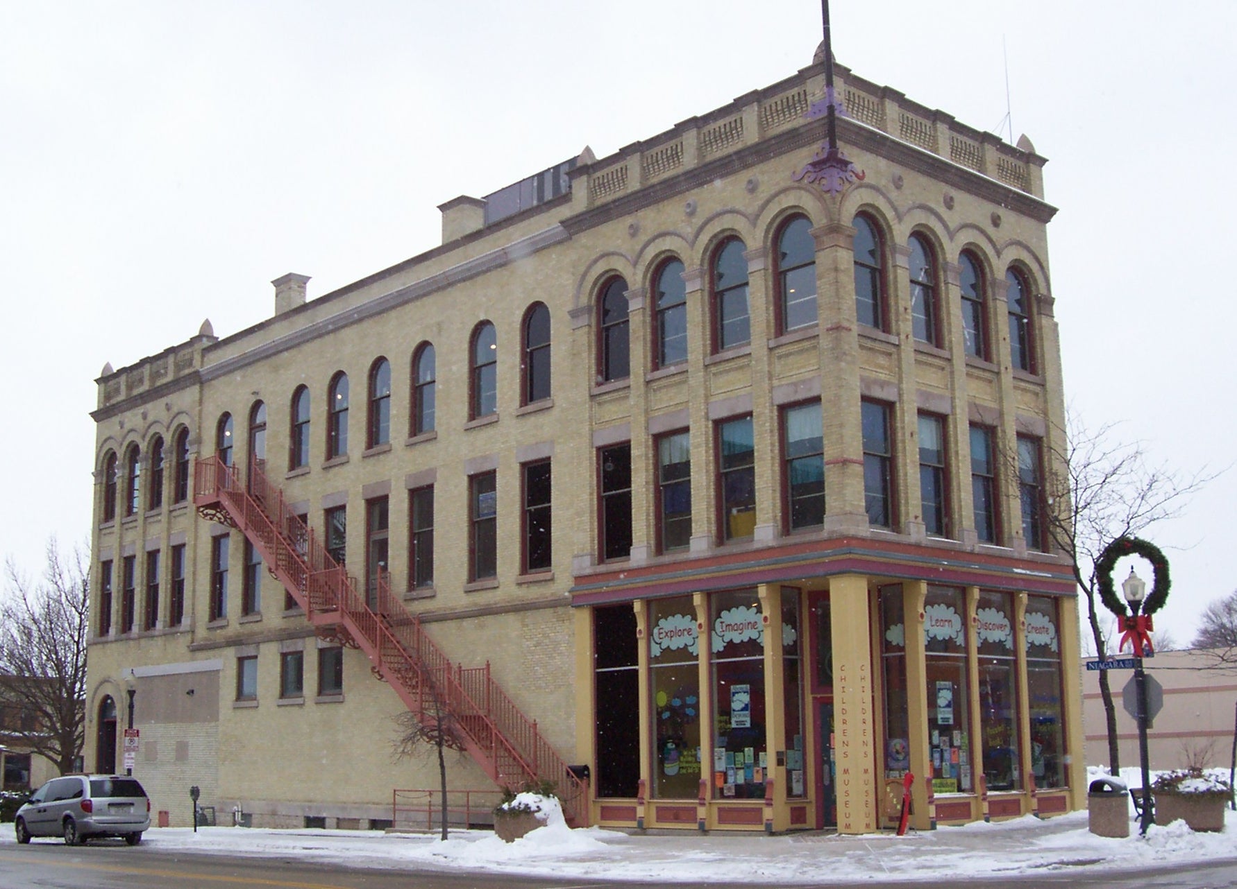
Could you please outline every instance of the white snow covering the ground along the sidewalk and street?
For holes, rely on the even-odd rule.
[[[1142,785],[1137,769],[1122,769],[1122,778],[1131,786]],[[628,836],[599,827],[570,830],[560,817],[550,817],[546,827],[513,843],[489,831],[452,831],[450,838],[442,842],[437,835],[421,833],[244,827],[204,827],[194,833],[186,827],[151,830],[143,844],[167,852],[296,857],[382,869],[414,867],[565,878],[590,878],[604,872],[611,879],[663,884],[708,875],[719,883],[793,885],[823,878],[938,882],[1054,870],[1085,879],[1092,868],[1142,869],[1237,858],[1237,812],[1226,811],[1225,823],[1222,833],[1195,833],[1181,822],[1153,826],[1143,840],[1132,821],[1129,838],[1110,840],[1087,831],[1087,814],[1082,811],[1043,821],[1028,815],[997,823],[941,827],[905,837],[694,832]],[[11,827],[5,825],[0,843],[12,842]]]

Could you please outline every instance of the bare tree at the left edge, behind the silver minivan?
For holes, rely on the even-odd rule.
[[[47,543],[43,579],[32,584],[10,559],[0,601],[0,695],[33,716],[10,736],[72,772],[85,741],[85,655],[89,629],[87,555],[63,556]]]

